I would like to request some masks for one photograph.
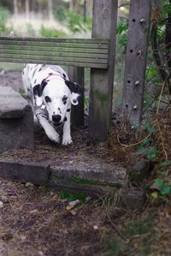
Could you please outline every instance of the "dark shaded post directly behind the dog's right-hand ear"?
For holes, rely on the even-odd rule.
[[[80,102],[77,106],[72,106],[71,123],[75,127],[84,125],[84,81],[85,73],[84,68],[80,67],[68,67],[69,80],[74,81],[82,86],[82,92],[80,96]]]

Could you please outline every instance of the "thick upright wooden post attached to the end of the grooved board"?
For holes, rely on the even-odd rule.
[[[106,140],[109,133],[115,66],[117,0],[94,0],[92,38],[109,39],[109,68],[91,68],[88,140]]]

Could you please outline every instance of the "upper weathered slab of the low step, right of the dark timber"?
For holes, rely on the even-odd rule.
[[[60,179],[82,178],[95,182],[125,186],[127,182],[127,170],[117,164],[107,164],[99,158],[73,156],[72,161],[62,159],[56,165],[51,164],[52,173]]]

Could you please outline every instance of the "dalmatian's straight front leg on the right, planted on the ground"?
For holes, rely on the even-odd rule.
[[[70,119],[71,119],[71,106],[69,105],[68,110],[66,112],[65,122],[63,124],[62,145],[64,146],[73,143],[73,140],[71,138]]]

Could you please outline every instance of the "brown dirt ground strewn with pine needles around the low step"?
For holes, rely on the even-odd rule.
[[[1,86],[22,88],[20,71],[1,71],[0,78]],[[87,147],[85,128],[73,133],[74,145],[63,148],[37,130],[35,152],[5,152],[1,157],[53,164],[56,155],[60,160],[72,161],[75,155],[84,153],[107,163],[120,162],[122,166],[138,157],[136,152],[124,152],[123,148],[117,148],[116,154],[111,142]],[[79,205],[69,206],[69,201],[75,199],[80,199],[80,195],[0,179],[0,256],[171,254],[169,200],[151,199],[147,191],[144,207],[140,211],[129,211],[110,205],[109,199],[86,196]]]

